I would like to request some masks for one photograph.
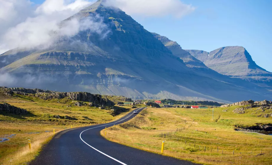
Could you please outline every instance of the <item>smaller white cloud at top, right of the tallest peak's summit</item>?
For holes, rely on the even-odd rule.
[[[106,5],[119,7],[128,15],[142,17],[170,15],[181,18],[195,10],[195,7],[180,0],[108,0]]]

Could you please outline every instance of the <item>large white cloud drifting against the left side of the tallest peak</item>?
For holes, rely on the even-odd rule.
[[[4,25],[0,26],[0,54],[17,47],[45,48],[61,37],[72,37],[87,29],[104,32],[106,25],[99,16],[61,22],[91,3],[88,0],[46,0],[33,7],[29,0],[0,0],[0,21]]]

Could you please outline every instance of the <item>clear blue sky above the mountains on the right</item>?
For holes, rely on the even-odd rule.
[[[31,0],[41,4],[44,0]],[[131,15],[150,32],[177,41],[183,49],[210,52],[225,46],[243,46],[253,60],[272,72],[271,0],[182,0],[195,11],[182,17]]]

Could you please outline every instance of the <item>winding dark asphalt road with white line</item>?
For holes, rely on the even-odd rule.
[[[140,113],[144,108],[137,108]],[[127,147],[108,141],[100,135],[105,127],[129,121],[137,114],[133,112],[117,121],[59,132],[43,148],[30,165],[120,165],[120,164],[179,164],[193,165],[190,161],[179,160],[156,153]]]

